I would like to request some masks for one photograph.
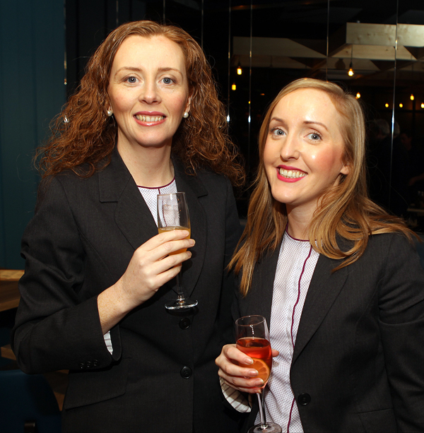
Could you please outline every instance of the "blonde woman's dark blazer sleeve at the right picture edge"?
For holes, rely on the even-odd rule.
[[[391,236],[379,281],[379,328],[400,432],[424,431],[424,271],[404,236]]]

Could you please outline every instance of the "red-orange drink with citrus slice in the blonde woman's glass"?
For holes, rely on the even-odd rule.
[[[237,349],[251,357],[253,364],[249,365],[258,371],[258,377],[264,381],[269,379],[272,366],[271,344],[266,338],[245,337],[237,340]]]

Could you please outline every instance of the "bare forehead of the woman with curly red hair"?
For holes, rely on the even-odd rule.
[[[115,54],[112,68],[129,61],[146,65],[179,67],[185,70],[182,48],[164,35],[126,37]]]

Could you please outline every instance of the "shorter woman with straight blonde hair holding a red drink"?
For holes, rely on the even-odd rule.
[[[267,419],[287,432],[423,431],[424,271],[413,232],[367,197],[359,102],[333,83],[290,83],[259,158],[230,266],[233,319],[270,324]],[[257,424],[252,358],[232,344],[216,363],[228,401]]]

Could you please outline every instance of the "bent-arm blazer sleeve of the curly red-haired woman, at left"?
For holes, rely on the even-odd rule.
[[[25,274],[11,338],[19,367],[42,373],[109,365],[113,357],[102,336],[98,291],[84,287],[83,243],[58,178],[49,180],[37,202],[21,255]]]

